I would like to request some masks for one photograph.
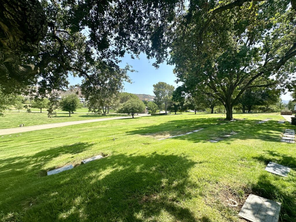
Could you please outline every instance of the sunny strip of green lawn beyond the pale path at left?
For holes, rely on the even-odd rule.
[[[116,116],[128,116],[123,114],[107,114],[105,116],[100,114],[87,114],[87,113],[73,113],[69,117],[68,113],[57,113],[57,116],[52,118],[47,117],[47,113],[38,113],[38,112],[15,112],[15,111],[6,111],[4,117],[0,117],[0,129],[6,128],[15,128],[19,127],[21,123],[24,123],[25,126],[34,126],[40,124],[49,124],[49,123],[62,123],[70,122],[76,120],[89,120],[89,119],[98,119],[98,118],[108,118]]]

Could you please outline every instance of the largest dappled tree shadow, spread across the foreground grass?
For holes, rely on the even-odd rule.
[[[178,155],[111,155],[32,180],[36,190],[11,197],[0,208],[7,215],[15,212],[19,206],[7,205],[19,199],[26,207],[17,213],[29,221],[197,221],[182,204],[193,198],[192,187],[198,189],[189,180],[192,167],[199,163]]]

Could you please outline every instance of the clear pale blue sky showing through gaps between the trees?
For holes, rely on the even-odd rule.
[[[154,60],[148,60],[145,54],[140,54],[140,59],[131,59],[128,55],[121,59],[121,67],[125,67],[126,63],[133,66],[134,70],[138,72],[129,73],[133,83],[125,83],[124,91],[136,94],[153,95],[153,84],[158,82],[166,82],[177,87],[181,83],[175,83],[176,76],[173,74],[173,66],[166,63],[161,64],[158,69],[152,66]],[[81,83],[80,78],[69,77],[71,85]],[[289,93],[281,95],[283,100],[291,99]]]

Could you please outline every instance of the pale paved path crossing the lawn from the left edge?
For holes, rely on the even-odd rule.
[[[148,116],[148,114],[139,114],[137,116]],[[25,126],[25,127],[18,127],[18,128],[9,128],[9,129],[1,129],[0,135],[12,134],[12,133],[23,133],[33,130],[41,130],[41,129],[50,129],[56,128],[61,126],[70,126],[76,125],[81,123],[93,123],[93,122],[100,122],[106,120],[119,120],[119,119],[129,119],[132,118],[131,116],[119,116],[119,117],[111,117],[111,118],[100,118],[100,119],[92,119],[92,120],[78,120],[72,122],[64,122],[64,123],[50,123],[50,124],[43,124],[43,125],[36,125],[36,126]]]

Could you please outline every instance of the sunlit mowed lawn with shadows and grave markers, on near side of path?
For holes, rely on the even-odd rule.
[[[279,114],[182,114],[110,120],[0,138],[3,221],[243,221],[252,193],[296,218],[296,145],[280,142]],[[243,118],[246,118],[243,120]],[[272,120],[256,124],[259,120]],[[226,124],[220,124],[226,123]],[[202,131],[172,139],[168,135]],[[218,143],[207,142],[231,131]],[[80,165],[81,160],[107,155]],[[292,168],[265,171],[269,161]],[[46,171],[73,164],[65,172]],[[228,198],[239,203],[229,207]]]

